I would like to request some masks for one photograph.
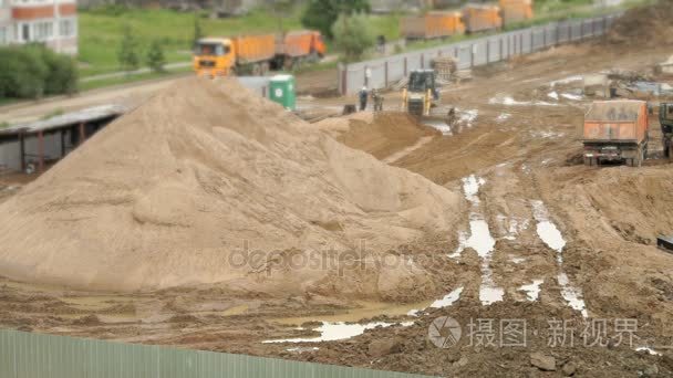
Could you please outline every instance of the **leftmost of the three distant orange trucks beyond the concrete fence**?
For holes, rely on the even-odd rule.
[[[428,12],[423,17],[405,17],[400,21],[402,36],[428,40],[465,33],[460,12]]]

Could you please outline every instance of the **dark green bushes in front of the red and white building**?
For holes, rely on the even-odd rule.
[[[0,97],[39,98],[76,88],[73,59],[41,44],[0,48]]]

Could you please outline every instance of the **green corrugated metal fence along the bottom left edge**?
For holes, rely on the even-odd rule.
[[[422,378],[276,358],[0,330],[1,378]]]

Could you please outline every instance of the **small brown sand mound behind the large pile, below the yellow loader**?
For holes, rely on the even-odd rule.
[[[405,113],[354,113],[341,118],[327,118],[317,123],[344,145],[367,151],[379,159],[414,145],[425,136],[439,135],[423,126]]]

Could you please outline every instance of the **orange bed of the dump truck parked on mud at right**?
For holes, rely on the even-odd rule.
[[[640,144],[648,136],[648,104],[642,101],[596,102],[584,116],[584,143]]]

